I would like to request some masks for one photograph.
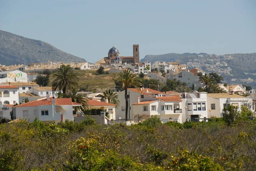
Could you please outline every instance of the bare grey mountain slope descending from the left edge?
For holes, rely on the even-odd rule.
[[[0,30],[0,64],[45,63],[47,61],[85,62],[44,41],[24,38]]]

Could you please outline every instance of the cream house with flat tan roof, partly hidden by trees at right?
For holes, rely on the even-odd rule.
[[[233,105],[241,110],[241,106],[251,104],[252,99],[237,94],[228,93],[208,93],[207,108],[208,116],[223,117],[222,110],[224,107]]]

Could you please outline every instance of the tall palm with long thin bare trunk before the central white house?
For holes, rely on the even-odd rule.
[[[142,85],[142,81],[137,77],[131,70],[123,70],[123,72],[118,73],[117,80],[122,82],[122,87],[125,89],[125,120],[128,120],[128,96],[127,89],[134,86],[138,88]]]

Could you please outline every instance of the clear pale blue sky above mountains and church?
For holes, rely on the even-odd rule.
[[[255,0],[0,0],[0,30],[96,62],[132,56],[256,52]]]

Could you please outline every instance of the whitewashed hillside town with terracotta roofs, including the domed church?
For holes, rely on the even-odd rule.
[[[131,72],[136,77],[143,74],[147,79],[157,81],[157,84],[166,84],[169,80],[180,81],[192,91],[178,92],[168,90],[162,92],[139,85],[137,88],[127,87],[128,104],[126,105],[125,91],[116,90],[113,92],[118,97],[118,103],[111,103],[103,92],[80,91],[87,100],[88,109],[99,109],[105,116],[101,124],[113,124],[114,122],[140,123],[153,116],[157,116],[163,123],[186,121],[208,121],[211,117],[223,117],[224,107],[233,105],[241,110],[242,107],[249,107],[255,115],[256,94],[255,90],[246,90],[244,85],[225,85],[218,83],[221,93],[211,93],[204,90],[201,76],[207,73],[201,69],[199,63],[191,62],[197,67],[192,70],[187,65],[177,62],[150,61],[140,63],[139,45],[133,45],[133,56],[123,57],[116,47],[108,51],[108,56],[95,64],[64,63],[48,61],[46,64],[11,65],[1,66],[0,71],[0,117],[6,119],[26,119],[29,122],[35,118],[41,121],[62,122],[66,119],[81,122],[87,114],[84,110],[75,110],[82,104],[72,101],[71,98],[59,98],[58,93],[64,93],[61,89],[47,87],[36,83],[38,75],[45,70],[54,72],[61,67],[70,67],[72,70],[99,70],[103,67],[108,72],[116,74]],[[215,70],[214,70],[215,71]],[[44,75],[45,76],[45,75]],[[105,87],[107,89],[108,87]],[[246,96],[245,96],[246,95]],[[126,111],[128,110],[128,111]],[[126,116],[128,113],[128,116]],[[90,115],[90,114],[89,114]],[[97,118],[97,117],[96,117]]]

